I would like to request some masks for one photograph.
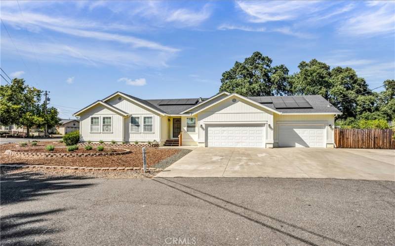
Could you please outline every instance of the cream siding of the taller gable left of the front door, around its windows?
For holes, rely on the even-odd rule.
[[[120,100],[118,98],[121,98]],[[124,141],[125,142],[148,142],[148,141],[158,141],[160,142],[160,131],[161,131],[161,117],[154,111],[145,108],[144,106],[138,105],[135,102],[123,97],[114,96],[106,101],[118,109],[130,114],[133,117],[140,117],[140,132],[131,132],[130,128],[130,117],[124,118]],[[154,132],[143,132],[143,117],[152,116],[154,120]],[[163,140],[164,141],[164,140]]]

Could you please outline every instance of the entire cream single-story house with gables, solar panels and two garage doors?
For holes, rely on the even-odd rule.
[[[177,141],[205,147],[334,147],[335,116],[320,95],[143,100],[122,92],[79,110],[81,141]],[[169,141],[167,142],[169,143]]]

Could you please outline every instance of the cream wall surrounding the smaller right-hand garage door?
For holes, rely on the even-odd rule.
[[[279,124],[324,124],[326,131],[326,147],[334,144],[334,115],[277,115],[274,116],[274,143],[278,147]],[[332,125],[329,127],[329,125]]]

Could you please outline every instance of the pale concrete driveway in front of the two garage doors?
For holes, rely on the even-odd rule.
[[[395,181],[394,150],[196,148],[157,177],[335,178]]]

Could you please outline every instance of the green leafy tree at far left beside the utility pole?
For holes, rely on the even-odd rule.
[[[52,127],[59,123],[58,111],[41,104],[42,91],[25,84],[24,79],[13,79],[11,85],[0,86],[0,116],[2,125],[26,126],[27,133],[33,126]]]

